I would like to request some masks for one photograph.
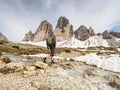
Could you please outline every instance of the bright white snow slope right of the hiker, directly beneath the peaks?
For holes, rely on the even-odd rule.
[[[94,36],[85,41],[80,41],[75,39],[74,37],[69,40],[63,41],[63,43],[58,44],[58,47],[72,47],[72,48],[87,48],[87,47],[95,47],[95,46],[105,46],[109,47],[109,44],[106,40],[102,39],[102,37]]]

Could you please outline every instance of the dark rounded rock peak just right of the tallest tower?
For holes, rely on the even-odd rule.
[[[91,33],[91,32],[90,32]],[[87,30],[87,27],[84,25],[81,25],[76,31],[75,31],[75,38],[81,41],[84,41],[89,38],[89,33]]]

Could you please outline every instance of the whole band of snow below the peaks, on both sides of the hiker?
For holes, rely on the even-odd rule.
[[[27,43],[27,44],[33,44],[38,46],[46,47],[46,42],[21,42],[21,43]],[[75,39],[74,37],[65,40],[57,42],[57,47],[69,47],[69,48],[88,48],[88,47],[96,47],[96,46],[104,46],[104,47],[110,47],[110,46],[118,46],[120,45],[120,39],[103,39],[101,36],[93,36],[85,41],[80,41]]]

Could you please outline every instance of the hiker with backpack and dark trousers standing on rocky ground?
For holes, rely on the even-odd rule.
[[[46,39],[46,45],[47,49],[50,50],[50,57],[51,57],[51,64],[54,64],[54,53],[55,53],[55,47],[56,47],[56,37],[53,34],[53,32],[50,34],[50,36]],[[46,59],[44,60],[46,62]]]

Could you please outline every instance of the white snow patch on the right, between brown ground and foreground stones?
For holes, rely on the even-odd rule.
[[[118,54],[110,55],[108,57],[97,56],[96,53],[90,53],[85,56],[78,56],[74,59],[106,70],[120,72],[120,56]]]

